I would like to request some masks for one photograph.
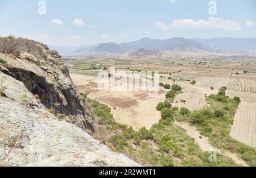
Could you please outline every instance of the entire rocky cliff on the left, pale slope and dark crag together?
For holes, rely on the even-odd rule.
[[[12,37],[0,50],[0,165],[138,165],[85,132],[92,114],[57,52]]]

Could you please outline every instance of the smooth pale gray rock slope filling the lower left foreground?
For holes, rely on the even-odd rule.
[[[115,154],[81,128],[59,121],[23,82],[2,72],[0,92],[0,165],[138,165]]]

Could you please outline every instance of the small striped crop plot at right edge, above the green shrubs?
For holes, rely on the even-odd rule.
[[[241,78],[231,78],[226,85],[228,90],[240,91],[240,92],[256,92],[256,80],[248,80]]]

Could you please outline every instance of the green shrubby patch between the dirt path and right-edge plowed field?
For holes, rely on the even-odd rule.
[[[229,135],[240,98],[231,99],[225,95],[225,91],[224,86],[217,95],[211,94],[207,97],[210,108],[194,111],[189,117],[189,122],[198,127],[200,133],[207,136],[213,146],[234,152],[247,164],[256,166],[256,149],[238,142]]]

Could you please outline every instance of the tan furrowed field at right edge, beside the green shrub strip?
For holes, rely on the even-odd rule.
[[[230,135],[240,142],[256,147],[256,104],[241,102],[234,117]]]

